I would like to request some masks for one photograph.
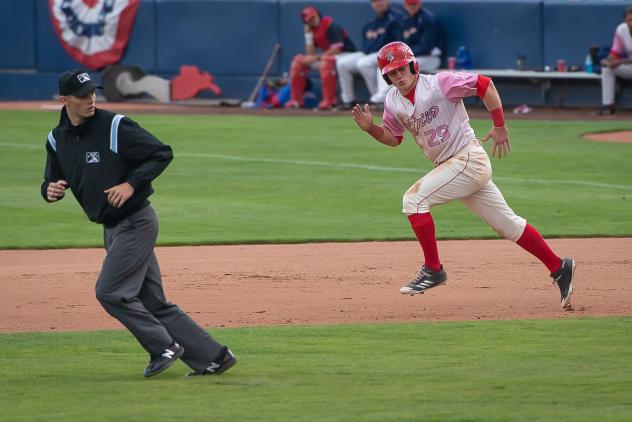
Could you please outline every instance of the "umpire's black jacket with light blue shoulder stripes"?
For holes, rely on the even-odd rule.
[[[59,124],[48,134],[46,151],[44,199],[48,201],[49,182],[66,180],[88,218],[110,227],[149,205],[151,181],[173,159],[169,145],[133,120],[103,109],[73,126],[62,108]],[[123,182],[132,185],[134,195],[116,208],[103,191]]]

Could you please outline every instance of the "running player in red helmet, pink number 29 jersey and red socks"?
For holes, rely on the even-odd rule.
[[[435,205],[459,199],[502,237],[542,261],[560,289],[562,308],[570,307],[575,261],[553,253],[542,235],[509,208],[492,182],[487,152],[470,127],[462,99],[477,95],[493,121],[481,140],[493,140],[492,156],[502,158],[511,150],[500,96],[492,80],[464,72],[420,75],[412,50],[402,42],[382,47],[377,59],[382,76],[396,89],[391,88],[386,95],[382,125],[373,123],[366,104],[353,108],[355,122],[377,141],[392,147],[401,144],[408,130],[435,166],[404,194],[402,211],[421,244],[424,264],[400,292],[415,295],[446,282],[430,211]]]

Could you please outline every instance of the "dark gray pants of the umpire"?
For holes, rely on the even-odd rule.
[[[107,255],[97,280],[97,299],[151,356],[161,355],[175,340],[184,347],[182,360],[201,371],[222,346],[165,298],[154,254],[157,237],[158,217],[151,206],[115,227],[104,227]]]

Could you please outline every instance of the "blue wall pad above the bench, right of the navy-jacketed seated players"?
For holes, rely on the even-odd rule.
[[[540,0],[428,0],[446,34],[444,58],[465,45],[475,68],[515,68],[518,54],[528,68],[542,64]]]

